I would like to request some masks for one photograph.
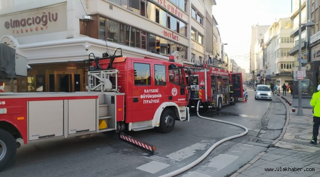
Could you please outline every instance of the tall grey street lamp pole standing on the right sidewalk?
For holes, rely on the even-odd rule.
[[[308,8],[308,7],[307,7]],[[299,66],[298,66],[298,71],[301,71],[301,27],[305,26],[305,27],[312,27],[315,26],[315,23],[313,22],[308,22],[305,24],[301,24],[301,0],[299,0],[299,44],[298,44],[298,48],[299,48]],[[302,96],[301,96],[301,79],[298,80],[298,112],[297,112],[297,116],[303,116],[303,110],[302,110]]]

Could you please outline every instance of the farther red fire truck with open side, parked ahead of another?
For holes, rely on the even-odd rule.
[[[209,68],[189,68],[190,85],[189,107],[201,112],[215,109],[221,111],[225,105],[234,105],[238,98],[243,97],[241,73]]]

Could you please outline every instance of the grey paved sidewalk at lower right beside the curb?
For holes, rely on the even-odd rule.
[[[297,116],[298,109],[292,112],[292,106],[277,94],[287,108],[287,120],[283,131],[265,152],[261,152],[252,161],[235,172],[231,177],[320,177],[320,143],[309,143],[312,137],[312,109],[303,110],[303,116]],[[288,102],[292,95],[287,92]],[[272,171],[273,170],[273,171]]]

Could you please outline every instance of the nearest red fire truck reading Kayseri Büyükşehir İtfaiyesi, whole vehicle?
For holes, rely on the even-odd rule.
[[[86,92],[0,93],[0,169],[14,159],[18,138],[29,144],[154,127],[168,133],[176,120],[189,121],[182,64],[124,57],[121,49],[116,56],[117,51],[89,55]],[[155,148],[124,134],[120,139]]]

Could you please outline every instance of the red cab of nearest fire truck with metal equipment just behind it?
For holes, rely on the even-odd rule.
[[[182,64],[114,55],[96,59],[92,66],[96,69],[90,71],[89,91],[126,93],[126,116],[121,123],[129,131],[159,127],[160,132],[167,133],[173,129],[175,120],[189,120],[189,94]],[[107,89],[98,79],[105,78],[101,73],[105,69],[117,73],[117,77],[108,78],[113,88]]]

